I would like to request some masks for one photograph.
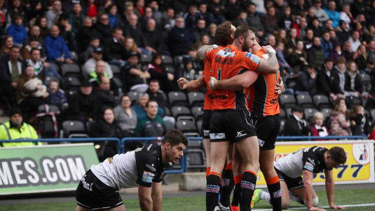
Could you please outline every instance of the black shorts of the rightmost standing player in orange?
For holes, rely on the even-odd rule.
[[[278,114],[255,118],[254,121],[256,135],[258,136],[259,148],[271,150],[275,148],[276,137],[280,130],[280,117]]]

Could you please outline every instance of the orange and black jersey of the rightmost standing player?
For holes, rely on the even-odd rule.
[[[257,56],[268,59],[269,55],[262,48],[255,53]],[[278,69],[280,69],[277,63]],[[280,83],[280,71],[275,74],[258,74],[258,79],[250,86],[249,110],[252,116],[264,117],[280,113],[278,94],[275,92],[276,83]]]

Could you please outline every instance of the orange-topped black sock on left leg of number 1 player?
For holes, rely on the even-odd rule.
[[[209,172],[206,185],[206,211],[213,211],[219,206],[220,173]]]

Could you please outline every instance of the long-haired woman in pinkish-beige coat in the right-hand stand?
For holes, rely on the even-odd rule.
[[[333,111],[330,115],[331,118],[331,135],[350,135],[350,121],[346,118],[346,104],[343,98],[337,98]]]

